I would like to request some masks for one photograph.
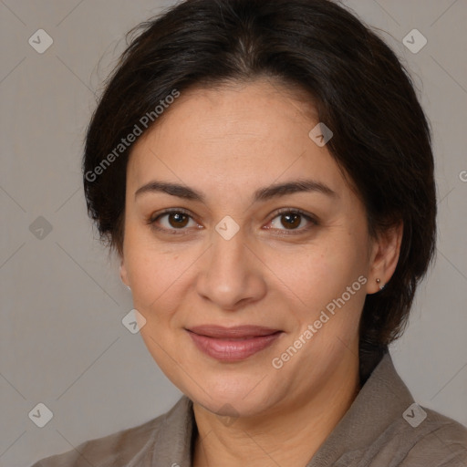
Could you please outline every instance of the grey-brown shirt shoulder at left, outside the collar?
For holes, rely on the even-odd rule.
[[[157,440],[167,413],[136,427],[84,441],[75,449],[53,455],[31,467],[114,467],[143,459]],[[118,461],[118,462],[117,462]]]

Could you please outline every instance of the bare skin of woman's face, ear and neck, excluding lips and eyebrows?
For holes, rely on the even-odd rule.
[[[193,400],[196,467],[306,465],[358,393],[359,317],[365,296],[379,291],[376,278],[385,284],[395,270],[402,228],[369,237],[358,195],[327,147],[308,137],[317,121],[309,99],[261,78],[183,92],[132,150],[120,275],[146,319],[140,334],[150,354]],[[336,195],[252,202],[255,190],[300,178]],[[205,202],[135,196],[154,180],[188,185]],[[181,228],[166,214],[156,221],[166,232],[155,230],[148,220],[168,208],[191,217]],[[290,227],[280,208],[303,210],[317,224],[300,216]],[[230,240],[215,230],[226,215],[239,227]],[[366,284],[274,368],[273,358],[360,275]],[[185,330],[204,324],[283,334],[226,363],[202,353]]]

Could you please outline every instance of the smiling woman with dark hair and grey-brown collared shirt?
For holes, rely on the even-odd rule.
[[[430,130],[327,0],[190,0],[141,26],[83,162],[140,334],[184,396],[52,466],[461,466],[395,371],[431,263]]]

